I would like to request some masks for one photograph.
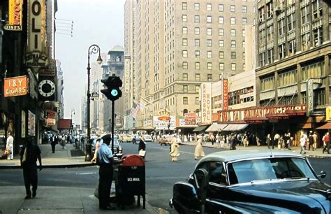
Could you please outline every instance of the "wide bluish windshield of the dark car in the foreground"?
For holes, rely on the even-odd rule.
[[[282,157],[251,159],[228,164],[230,184],[255,180],[316,178],[305,159]]]

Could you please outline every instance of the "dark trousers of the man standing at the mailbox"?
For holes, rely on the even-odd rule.
[[[112,187],[112,165],[99,168],[99,208],[105,208],[110,203],[110,188]]]

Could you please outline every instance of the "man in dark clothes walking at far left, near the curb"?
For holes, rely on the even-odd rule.
[[[32,197],[36,197],[38,187],[37,159],[39,161],[39,171],[43,169],[43,165],[41,164],[41,150],[38,145],[34,144],[33,136],[27,137],[27,145],[22,148],[20,155],[24,185],[27,192],[25,199],[31,199],[30,185],[32,185]]]

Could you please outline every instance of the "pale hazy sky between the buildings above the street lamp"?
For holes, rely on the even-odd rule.
[[[124,3],[125,0],[57,0],[55,59],[64,71],[64,118],[70,119],[74,110],[75,124],[81,124],[82,97],[87,94],[89,46],[96,44],[106,53],[115,45],[124,46]],[[71,20],[72,37],[67,35]],[[92,54],[90,63],[97,57]]]

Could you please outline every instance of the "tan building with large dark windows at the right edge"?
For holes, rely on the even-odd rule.
[[[258,1],[259,106],[307,106],[306,128],[323,122],[330,105],[328,0]]]

